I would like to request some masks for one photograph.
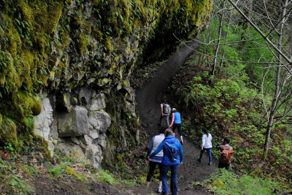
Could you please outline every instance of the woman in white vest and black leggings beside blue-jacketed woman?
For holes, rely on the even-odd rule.
[[[162,192],[162,182],[161,182],[161,160],[163,157],[163,150],[161,150],[158,154],[156,154],[154,157],[151,158],[151,160],[148,160],[148,156],[157,149],[157,147],[159,146],[159,144],[164,140],[164,132],[165,129],[167,129],[168,126],[164,126],[161,127],[160,129],[160,134],[158,136],[154,136],[151,140],[151,143],[148,147],[148,152],[147,152],[147,157],[145,162],[149,163],[149,172],[147,174],[147,178],[146,178],[146,187],[149,187],[151,178],[154,174],[156,165],[158,164],[159,166],[159,185],[158,185],[158,189],[157,192],[161,193]]]

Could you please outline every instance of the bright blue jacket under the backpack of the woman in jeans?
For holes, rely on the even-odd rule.
[[[177,142],[178,142],[178,149],[177,150],[178,150],[178,152],[180,152],[180,155],[178,156],[178,160],[174,163],[169,160],[169,157],[168,157],[169,151],[167,149],[166,144],[163,142],[161,142],[159,144],[159,146],[157,147],[157,149],[149,155],[149,158],[151,159],[151,157],[154,157],[158,152],[160,152],[160,150],[163,149],[163,157],[162,157],[161,164],[174,165],[174,164],[180,164],[181,162],[183,162],[183,147],[180,144],[180,142],[178,141],[178,139],[176,139],[174,136],[167,136],[164,138],[164,140],[166,140],[170,144],[173,143],[175,140],[177,140]]]

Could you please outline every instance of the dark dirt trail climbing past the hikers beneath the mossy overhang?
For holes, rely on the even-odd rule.
[[[187,47],[188,46],[188,47]],[[138,111],[140,120],[148,127],[149,143],[152,136],[157,135],[159,127],[157,122],[160,116],[160,103],[162,96],[167,91],[168,86],[171,85],[173,77],[180,71],[181,66],[186,61],[187,57],[199,46],[198,43],[192,42],[182,46],[178,49],[168,61],[159,68],[152,79],[150,79],[144,87],[136,91],[136,103],[138,104]],[[190,49],[192,48],[192,49]],[[179,110],[178,110],[179,111]],[[181,113],[183,116],[183,113]],[[165,124],[165,119],[164,119]],[[183,131],[183,129],[182,129]],[[178,135],[176,130],[175,132]],[[179,136],[177,138],[180,140]],[[200,154],[200,148],[191,143],[187,137],[184,136],[183,145],[184,159],[183,164],[178,168],[178,188],[179,194],[201,194],[194,191],[185,191],[185,187],[192,182],[201,182],[204,179],[210,178],[210,174],[215,172],[218,163],[212,161],[212,165],[208,165],[208,155],[204,154],[203,161],[197,161]],[[153,186],[156,189],[157,186]],[[204,193],[206,194],[206,193]]]

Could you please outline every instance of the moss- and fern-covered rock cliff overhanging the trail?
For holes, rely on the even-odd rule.
[[[204,29],[211,6],[212,0],[1,1],[0,145],[12,143],[21,150],[37,140],[33,118],[41,112],[50,113],[48,128],[60,133],[56,117],[92,104],[78,95],[84,88],[91,97],[106,94],[106,109],[91,110],[111,117],[104,135],[124,135],[113,143],[107,138],[107,146],[99,142],[111,151],[105,154],[115,152],[113,145],[137,141],[131,133],[137,131],[138,115],[128,78],[142,62],[174,51],[178,43],[173,34],[187,39]],[[53,105],[50,111],[38,101],[44,94]],[[51,137],[54,145],[60,143],[58,134]]]

